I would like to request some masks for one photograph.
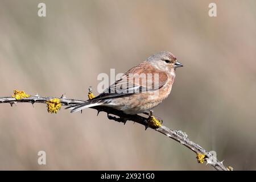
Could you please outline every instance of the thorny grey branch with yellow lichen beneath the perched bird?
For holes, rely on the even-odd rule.
[[[41,97],[41,96],[38,96],[38,94],[36,94],[36,96],[28,96],[27,95],[27,97],[24,97],[24,98],[21,97],[18,99],[15,98],[15,96],[0,97],[0,104],[1,103],[9,103],[9,104],[11,104],[11,106],[13,106],[13,104],[17,104],[18,102],[29,102],[31,104],[44,103],[44,104],[47,104],[47,108],[48,108],[49,101],[53,100],[53,99],[57,99],[60,102],[60,104],[64,105],[64,106],[72,106],[72,105],[81,104],[81,103],[85,102],[84,100],[75,100],[75,99],[71,99],[71,98],[66,98],[64,95],[59,98],[55,98],[55,97]],[[151,129],[158,131],[159,133],[164,134],[167,137],[176,140],[177,142],[180,142],[185,147],[189,148],[190,150],[192,150],[193,152],[195,152],[197,154],[197,159],[198,159],[199,163],[203,163],[205,160],[207,162],[207,164],[210,164],[210,166],[214,167],[218,171],[228,171],[228,170],[233,169],[232,167],[225,167],[224,164],[222,162],[220,162],[219,160],[217,160],[212,154],[210,154],[210,152],[206,151],[204,148],[200,147],[195,142],[192,142],[191,140],[189,140],[187,134],[183,133],[180,130],[177,131],[177,130],[168,129],[168,127],[163,126],[163,125],[158,128],[154,128],[152,126],[147,125],[148,118],[146,118],[146,117],[142,117],[141,115],[125,114],[122,111],[112,109],[112,108],[106,107],[106,106],[104,106],[104,107],[96,106],[96,107],[91,107],[91,108],[96,109],[98,111],[98,113],[100,113],[100,111],[104,111],[105,113],[108,114],[108,118],[112,119],[114,121],[122,122],[124,124],[126,123],[126,121],[133,121],[133,122],[139,123],[141,125],[144,125],[146,127],[146,129],[147,129],[147,127],[150,127]],[[109,114],[116,115],[119,118],[114,117]]]

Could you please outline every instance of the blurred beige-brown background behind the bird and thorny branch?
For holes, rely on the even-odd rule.
[[[47,16],[38,16],[38,3]],[[217,17],[209,17],[209,3]],[[155,114],[234,169],[256,169],[256,2],[0,1],[0,96],[97,93],[117,73],[167,50],[184,64]],[[0,169],[212,170],[174,140],[105,113],[0,105]],[[44,150],[47,165],[39,166]]]

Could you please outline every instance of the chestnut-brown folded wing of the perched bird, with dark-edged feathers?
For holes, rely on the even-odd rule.
[[[166,84],[168,75],[152,67],[147,61],[129,69],[119,80],[110,85],[105,92],[93,100],[104,100],[113,97],[127,96],[139,92],[156,90]]]

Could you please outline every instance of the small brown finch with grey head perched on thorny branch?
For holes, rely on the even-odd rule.
[[[151,112],[171,93],[179,67],[183,64],[171,52],[155,53],[129,69],[97,97],[66,109],[75,113],[89,107],[108,106],[131,115]]]

